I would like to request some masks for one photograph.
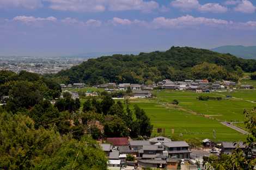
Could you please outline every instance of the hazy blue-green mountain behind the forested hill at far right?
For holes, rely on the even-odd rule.
[[[256,59],[256,46],[221,46],[212,48],[211,51],[230,53],[244,59]]]

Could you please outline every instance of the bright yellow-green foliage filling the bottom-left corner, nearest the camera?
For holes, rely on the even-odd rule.
[[[106,169],[105,153],[90,138],[35,129],[31,118],[0,114],[0,169]]]

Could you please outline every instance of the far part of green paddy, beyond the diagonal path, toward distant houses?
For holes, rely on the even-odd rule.
[[[243,110],[251,109],[256,104],[241,99],[224,99],[225,93],[196,93],[192,91],[171,91],[161,90],[154,92],[159,102],[170,103],[172,100],[179,100],[179,106],[182,108],[202,114],[206,117],[215,118],[218,121],[243,121]],[[256,91],[253,92],[256,95]],[[237,94],[239,94],[237,92]],[[211,96],[224,97],[222,100],[197,100],[197,97]],[[223,96],[224,95],[224,96]]]

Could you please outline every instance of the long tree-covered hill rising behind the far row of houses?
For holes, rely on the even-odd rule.
[[[256,71],[256,60],[236,58],[206,49],[172,47],[166,52],[139,55],[102,56],[89,59],[56,77],[63,83],[83,82],[90,85],[107,82],[150,84],[162,79],[238,80],[242,72]]]

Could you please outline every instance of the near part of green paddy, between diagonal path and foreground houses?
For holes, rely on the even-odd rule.
[[[172,129],[175,135],[182,135],[183,138],[210,138],[214,141],[237,141],[245,140],[246,136],[237,131],[225,127],[220,122],[193,115],[178,108],[167,108],[155,101],[132,100],[131,103],[143,108],[154,124],[153,134],[157,128],[165,128],[165,135],[171,136]],[[214,130],[216,138],[214,138]]]

